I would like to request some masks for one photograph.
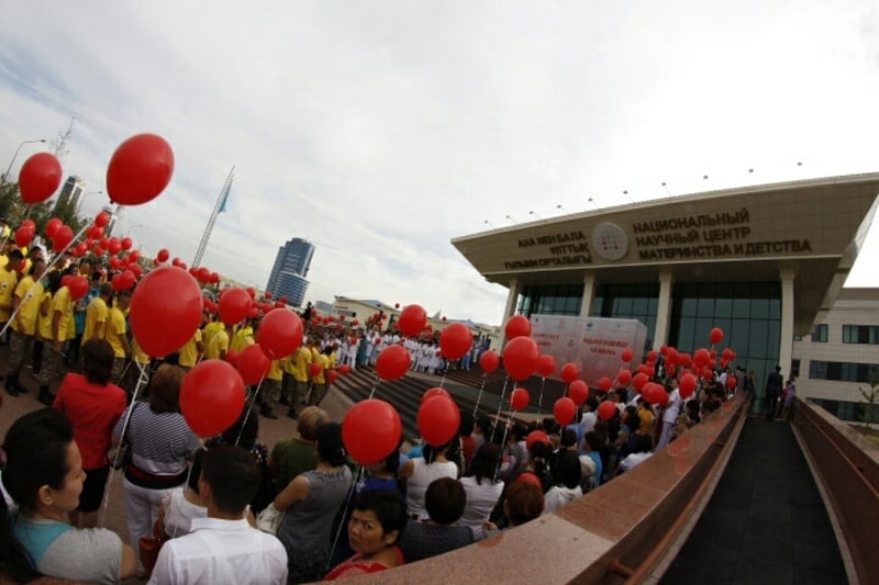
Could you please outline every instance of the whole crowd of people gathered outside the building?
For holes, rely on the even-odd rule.
[[[438,357],[430,341],[390,331],[307,329],[302,346],[252,389],[262,416],[288,408],[297,435],[269,448],[258,414],[246,408],[230,429],[202,439],[180,414],[183,376],[202,358],[227,359],[254,344],[257,320],[230,327],[205,314],[178,353],[151,360],[126,327],[130,292],[114,291],[97,267],[84,260],[45,273],[38,249],[4,258],[5,390],[26,392],[19,376],[29,367],[47,406],[20,417],[3,439],[0,567],[19,582],[302,583],[418,562],[631,471],[736,392],[719,375],[685,401],[668,378],[664,408],[627,386],[602,395],[614,405],[610,418],[599,419],[592,397],[564,428],[553,418],[507,426],[461,412],[447,443],[403,449],[401,437],[398,450],[361,466],[347,457],[341,420],[320,407],[330,372],[374,364],[393,344],[416,356],[414,369],[436,371]],[[79,301],[62,283],[71,273],[93,283]],[[123,475],[127,542],[98,527],[113,465]],[[267,511],[280,518],[268,532],[256,529]]]

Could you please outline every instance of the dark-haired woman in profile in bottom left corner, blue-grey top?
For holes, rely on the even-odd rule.
[[[64,521],[75,510],[86,474],[70,420],[54,408],[15,420],[3,442],[0,497],[0,566],[14,581],[45,575],[90,583],[119,583],[134,574],[134,551],[112,530],[77,529]]]

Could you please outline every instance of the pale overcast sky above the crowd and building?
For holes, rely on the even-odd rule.
[[[118,232],[149,254],[191,262],[234,165],[212,270],[265,286],[303,237],[309,300],[498,324],[507,290],[450,238],[624,190],[878,170],[879,4],[7,2],[0,99],[3,168],[75,116],[64,172],[88,191],[129,136],[170,143],[169,188]],[[849,285],[879,285],[877,232]]]

